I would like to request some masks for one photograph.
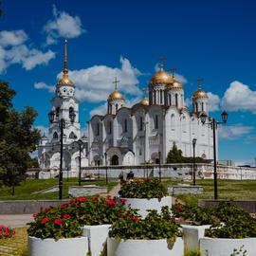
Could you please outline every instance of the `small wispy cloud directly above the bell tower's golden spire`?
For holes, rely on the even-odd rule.
[[[64,11],[59,11],[53,5],[53,19],[47,21],[43,28],[47,34],[46,44],[52,45],[57,43],[57,39],[76,38],[84,32],[79,16],[72,17]]]

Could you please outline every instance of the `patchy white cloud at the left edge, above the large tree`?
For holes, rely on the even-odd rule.
[[[11,64],[21,64],[30,70],[39,64],[48,64],[55,58],[51,50],[42,52],[36,48],[26,46],[27,34],[24,30],[0,32],[0,73],[6,71]]]

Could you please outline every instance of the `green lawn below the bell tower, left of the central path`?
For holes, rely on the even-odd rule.
[[[106,186],[105,180],[82,182],[82,185],[98,185]],[[108,183],[108,192],[118,184],[117,180],[111,180]],[[39,192],[53,186],[58,185],[58,179],[27,179],[23,181],[20,186],[15,187],[15,194],[11,195],[11,188],[1,187],[0,188],[0,200],[40,200],[40,199],[58,199],[59,192],[49,192],[42,194],[32,194],[32,192]],[[64,198],[68,198],[67,190],[69,186],[78,186],[77,178],[69,178],[68,182],[64,178]]]

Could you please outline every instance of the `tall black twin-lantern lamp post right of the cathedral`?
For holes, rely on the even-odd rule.
[[[202,113],[200,119],[203,124],[210,125],[213,133],[213,177],[214,177],[214,199],[218,199],[218,183],[217,183],[217,161],[216,161],[216,128],[218,124],[226,123],[228,120],[228,113],[223,111],[221,114],[222,121],[216,121],[214,118],[210,119],[209,123],[206,123],[207,115]]]

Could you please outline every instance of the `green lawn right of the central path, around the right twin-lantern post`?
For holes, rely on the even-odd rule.
[[[165,185],[178,183],[191,184],[192,182],[181,182],[180,180],[164,180]],[[197,199],[213,199],[213,180],[196,180],[196,185],[203,186],[204,192],[193,196]],[[218,180],[218,199],[233,200],[256,200],[256,180]]]

